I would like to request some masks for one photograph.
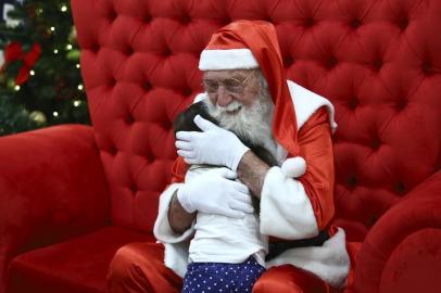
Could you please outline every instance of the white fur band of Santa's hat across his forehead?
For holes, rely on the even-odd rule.
[[[250,49],[203,50],[199,60],[201,71],[259,68]]]

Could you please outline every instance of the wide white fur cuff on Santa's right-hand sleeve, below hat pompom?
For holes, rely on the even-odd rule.
[[[314,211],[303,184],[287,177],[277,166],[266,173],[262,187],[261,232],[290,240],[318,234]]]

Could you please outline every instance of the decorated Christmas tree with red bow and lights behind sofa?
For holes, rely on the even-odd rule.
[[[2,1],[0,136],[89,124],[67,0]]]

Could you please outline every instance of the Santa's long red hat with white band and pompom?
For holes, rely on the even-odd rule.
[[[294,105],[285,76],[274,26],[263,21],[236,21],[222,27],[201,53],[201,71],[261,68],[275,104],[273,135],[290,156],[299,155]],[[294,162],[294,161],[292,161]],[[304,160],[295,160],[289,170],[299,177]],[[299,165],[300,164],[300,165]],[[300,171],[299,170],[303,170]]]

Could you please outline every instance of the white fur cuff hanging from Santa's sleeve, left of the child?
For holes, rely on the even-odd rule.
[[[193,225],[182,234],[173,231],[168,222],[168,205],[173,193],[182,186],[182,183],[171,184],[160,196],[160,207],[158,218],[154,222],[153,234],[159,242],[165,246],[164,265],[175,271],[176,275],[184,278],[188,265],[189,240],[194,232]]]

